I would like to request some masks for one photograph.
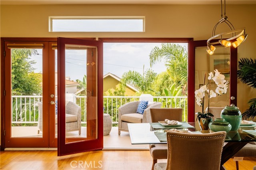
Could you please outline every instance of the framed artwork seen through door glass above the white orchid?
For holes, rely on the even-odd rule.
[[[217,69],[225,77],[230,77],[230,55],[229,54],[218,54],[210,55],[209,59],[210,71],[214,73]]]

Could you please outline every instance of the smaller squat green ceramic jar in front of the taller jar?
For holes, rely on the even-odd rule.
[[[225,119],[217,118],[215,119],[215,121],[209,123],[209,128],[214,132],[229,132],[231,129],[231,125],[227,121],[225,121]]]

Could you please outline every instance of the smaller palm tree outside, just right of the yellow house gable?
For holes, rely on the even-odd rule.
[[[143,74],[141,75],[137,71],[128,71],[125,72],[122,75],[122,84],[126,85],[126,83],[129,83],[139,89],[140,93],[148,93],[149,91],[152,91],[151,85],[156,78],[156,73],[152,71],[151,69],[147,69],[144,72],[144,66],[143,66]]]

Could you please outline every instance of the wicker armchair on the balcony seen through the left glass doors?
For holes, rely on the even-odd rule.
[[[39,133],[40,131],[43,131],[42,102],[38,102],[38,110],[39,110],[39,115],[38,115],[38,133]],[[57,115],[56,115],[55,133],[57,133],[57,130],[58,130],[58,126],[57,126]],[[81,107],[74,102],[68,101],[66,103],[66,132],[76,131],[76,130],[78,130],[79,134],[81,134]]]

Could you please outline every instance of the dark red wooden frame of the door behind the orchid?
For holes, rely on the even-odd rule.
[[[217,41],[217,40],[216,40]],[[195,117],[195,48],[207,47],[207,40],[190,41],[188,43],[188,122],[194,122]],[[230,105],[237,104],[237,48],[230,47]]]

